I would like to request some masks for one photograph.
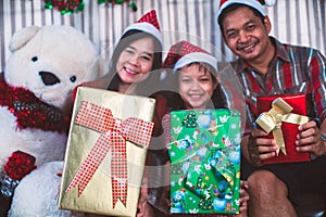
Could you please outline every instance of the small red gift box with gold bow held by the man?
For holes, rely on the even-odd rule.
[[[276,156],[263,164],[279,164],[310,161],[310,153],[297,152],[296,140],[299,125],[309,122],[305,94],[276,94],[256,98],[259,117],[256,123],[276,140],[279,150]]]

